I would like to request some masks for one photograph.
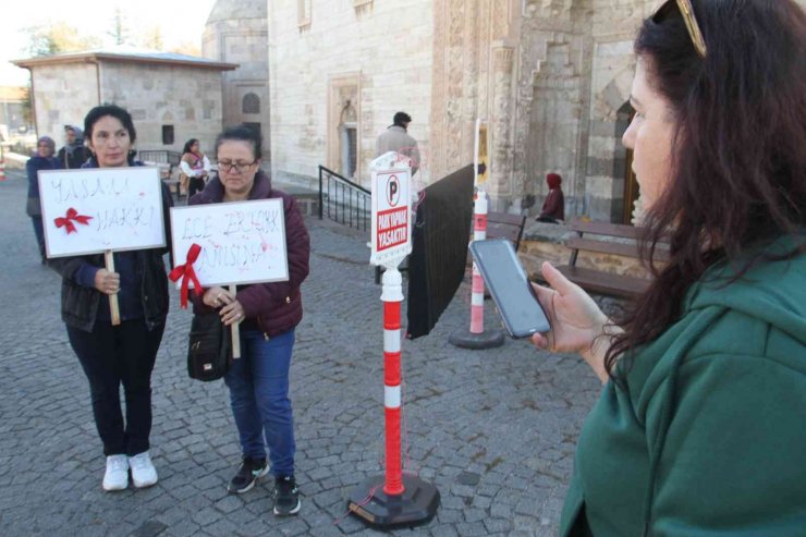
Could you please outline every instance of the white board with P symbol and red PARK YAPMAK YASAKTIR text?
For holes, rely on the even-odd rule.
[[[412,252],[408,168],[373,172],[373,265],[396,267]]]

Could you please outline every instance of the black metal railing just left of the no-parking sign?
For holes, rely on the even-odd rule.
[[[373,197],[368,190],[333,170],[319,167],[319,220],[330,220],[361,231],[369,229]]]

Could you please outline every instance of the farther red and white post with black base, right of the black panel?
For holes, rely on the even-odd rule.
[[[476,195],[473,204],[473,240],[487,239],[487,193],[484,185],[489,171],[487,155],[487,122],[476,120],[476,143],[474,151],[474,180]],[[485,331],[485,282],[473,263],[473,286],[471,290],[471,329],[455,330],[448,341],[462,349],[484,350],[503,345],[504,333],[498,329]]]

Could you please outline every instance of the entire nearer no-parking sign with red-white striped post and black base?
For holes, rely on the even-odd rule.
[[[386,267],[383,302],[383,407],[386,473],[368,477],[350,495],[347,510],[370,526],[389,529],[426,524],[439,508],[437,487],[403,475],[401,467],[403,279],[398,266],[412,251],[411,169],[387,152],[373,161],[374,265]]]

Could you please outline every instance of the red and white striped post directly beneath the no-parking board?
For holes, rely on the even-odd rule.
[[[396,268],[383,272],[383,407],[387,426],[387,473],[383,492],[402,495],[403,469],[400,454],[401,413],[401,325],[403,281]]]

